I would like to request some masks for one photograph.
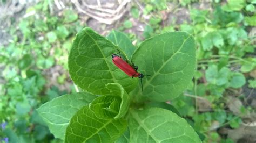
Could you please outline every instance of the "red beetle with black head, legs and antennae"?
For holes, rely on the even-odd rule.
[[[117,54],[112,54],[112,61],[114,65],[116,65],[119,69],[123,70],[124,73],[127,74],[128,76],[132,78],[139,77],[140,83],[142,84],[142,78],[144,77],[144,75],[137,71],[138,70],[137,66],[134,66],[133,64],[131,66],[129,63],[124,61],[120,55],[117,55]],[[150,75],[146,75],[146,76],[150,76]],[[143,85],[142,85],[142,90],[143,90]]]

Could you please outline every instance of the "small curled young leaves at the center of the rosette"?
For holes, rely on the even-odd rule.
[[[129,109],[130,97],[118,83],[109,83],[109,95],[103,95],[90,103],[90,109],[98,118],[121,118]]]

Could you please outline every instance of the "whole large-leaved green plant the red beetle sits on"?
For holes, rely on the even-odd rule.
[[[112,63],[118,50],[151,75],[143,78],[143,91],[138,78]],[[136,48],[121,32],[105,38],[86,27],[76,35],[68,61],[71,79],[84,92],[57,97],[38,112],[64,142],[201,142],[165,103],[185,90],[195,65],[194,38],[186,32],[159,34]]]

